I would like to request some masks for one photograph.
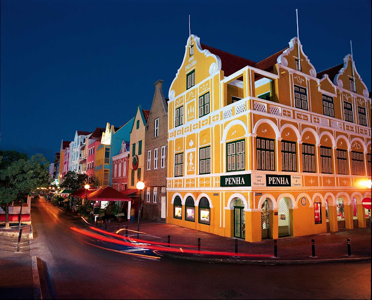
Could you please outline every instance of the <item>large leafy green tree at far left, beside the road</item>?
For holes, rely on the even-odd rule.
[[[42,154],[0,150],[0,207],[5,211],[5,228],[9,227],[9,205],[21,201],[38,186],[48,186],[49,162]]]

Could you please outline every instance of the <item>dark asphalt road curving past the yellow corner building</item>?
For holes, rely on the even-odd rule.
[[[33,255],[57,299],[371,299],[371,262],[310,265],[150,260],[99,248],[87,228],[41,199],[32,203]],[[218,294],[234,291],[241,295]],[[236,298],[229,298],[236,296]]]

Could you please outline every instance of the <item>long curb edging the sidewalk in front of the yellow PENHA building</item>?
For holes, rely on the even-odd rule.
[[[161,251],[159,251],[161,252]],[[231,259],[231,258],[207,258],[174,255],[169,253],[161,253],[163,257],[183,259],[199,262],[211,263],[235,263],[235,264],[252,264],[252,265],[289,265],[289,264],[314,264],[314,263],[337,263],[337,262],[360,262],[371,261],[371,257],[352,257],[352,258],[324,258],[311,260],[248,260],[248,259]]]

